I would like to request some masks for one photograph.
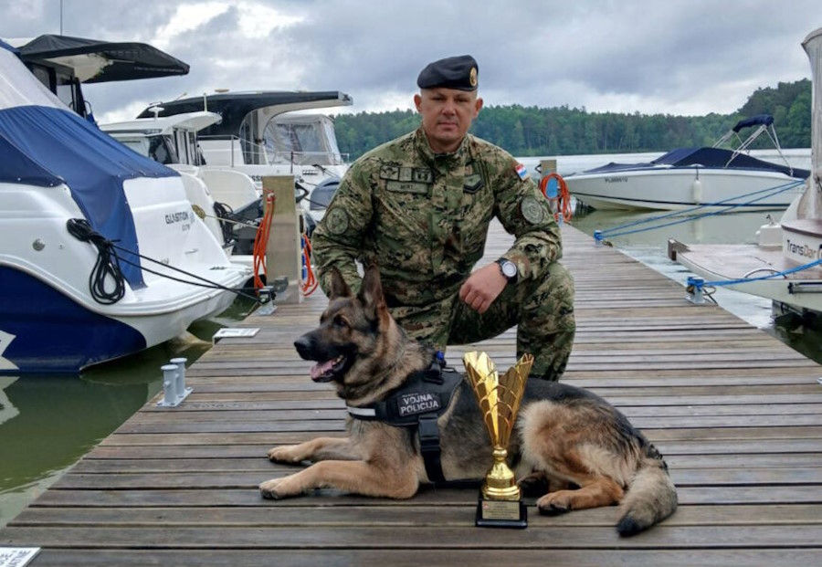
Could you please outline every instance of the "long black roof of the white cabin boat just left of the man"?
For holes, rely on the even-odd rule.
[[[271,116],[291,110],[322,109],[353,104],[350,95],[339,90],[258,90],[254,92],[227,92],[192,97],[189,99],[161,102],[160,116],[171,116],[183,112],[208,110],[223,117],[219,124],[213,124],[203,131],[204,136],[237,136],[250,112],[269,109]],[[143,110],[137,118],[150,118],[153,112]]]

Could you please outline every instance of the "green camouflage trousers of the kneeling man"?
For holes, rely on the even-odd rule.
[[[529,352],[532,377],[559,380],[574,346],[574,279],[554,262],[549,276],[502,290],[481,315],[458,295],[425,307],[395,307],[391,314],[417,341],[443,352],[449,344],[485,341],[517,326],[517,359]]]

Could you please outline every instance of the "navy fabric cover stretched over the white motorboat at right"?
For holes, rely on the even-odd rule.
[[[730,162],[730,163],[729,163]],[[798,169],[780,165],[779,163],[758,160],[746,153],[733,155],[732,150],[722,148],[677,148],[660,155],[656,160],[645,163],[606,163],[594,169],[585,170],[583,173],[608,173],[625,172],[627,170],[654,169],[660,166],[670,168],[678,167],[702,167],[710,169],[753,169],[785,173],[789,177],[796,179],[806,179],[810,172],[806,169]]]

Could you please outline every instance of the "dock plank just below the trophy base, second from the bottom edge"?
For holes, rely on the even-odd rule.
[[[142,549],[270,549],[278,541],[279,549],[394,549],[418,551],[419,543],[426,541],[426,550],[438,549],[491,549],[518,550],[534,546],[550,549],[612,549],[622,541],[613,527],[559,527],[551,528],[550,537],[544,530],[484,530],[476,538],[473,518],[463,527],[413,526],[403,530],[397,538],[393,527],[334,526],[318,534],[313,528],[298,527],[142,527],[129,529],[98,526],[49,527],[10,526],[5,530],[9,545],[17,547],[46,546],[49,548],[88,547],[118,549],[131,547],[133,541],[142,541]],[[641,538],[631,540],[634,549],[733,549],[745,548],[802,548],[815,547],[822,539],[822,525],[747,525],[736,526],[676,526],[660,525]]]

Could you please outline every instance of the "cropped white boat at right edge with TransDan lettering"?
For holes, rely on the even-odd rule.
[[[756,245],[687,245],[669,242],[669,256],[706,279],[699,292],[727,286],[773,299],[777,310],[822,313],[822,28],[803,42],[813,73],[812,175],[779,224],[759,231]],[[699,295],[699,294],[697,294]]]

